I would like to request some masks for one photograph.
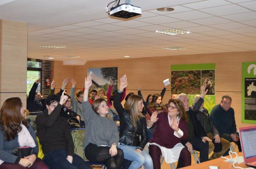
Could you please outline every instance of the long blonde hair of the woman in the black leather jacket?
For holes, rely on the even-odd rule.
[[[124,104],[124,109],[128,110],[134,127],[136,127],[139,118],[144,117],[139,111],[139,100],[142,100],[141,96],[132,95],[126,100]]]

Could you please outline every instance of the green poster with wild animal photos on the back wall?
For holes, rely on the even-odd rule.
[[[187,94],[190,106],[203,84],[208,89],[203,107],[210,113],[215,106],[215,63],[171,65],[171,94]]]

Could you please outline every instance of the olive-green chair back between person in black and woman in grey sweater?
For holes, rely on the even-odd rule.
[[[71,136],[74,142],[75,154],[80,156],[85,161],[89,161],[85,157],[84,140],[85,140],[85,129],[77,129],[71,132]]]

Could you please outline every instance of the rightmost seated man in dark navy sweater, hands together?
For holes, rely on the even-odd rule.
[[[242,151],[239,136],[236,132],[235,111],[231,107],[231,101],[230,96],[222,96],[220,104],[213,107],[210,119],[219,131],[220,136],[229,140],[229,142],[235,142],[239,151]],[[223,154],[223,156],[227,155],[229,155],[229,149]]]

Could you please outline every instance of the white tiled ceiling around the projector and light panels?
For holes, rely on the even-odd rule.
[[[88,61],[256,51],[256,0],[131,0],[142,16],[129,21],[108,17],[105,7],[111,1],[0,0],[0,19],[28,23],[28,58]],[[174,11],[157,11],[160,7]],[[165,29],[192,33],[155,32]]]

